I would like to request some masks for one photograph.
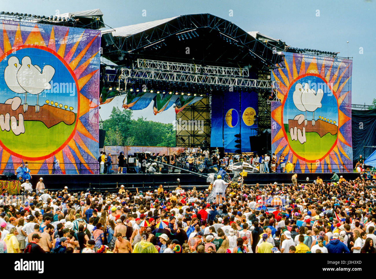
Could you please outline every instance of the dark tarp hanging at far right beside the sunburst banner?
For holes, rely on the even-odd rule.
[[[366,159],[375,150],[364,146],[376,145],[376,110],[351,110],[351,114],[353,158]]]

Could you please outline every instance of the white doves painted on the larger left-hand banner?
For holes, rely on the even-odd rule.
[[[55,74],[55,69],[50,65],[45,65],[43,70],[41,70],[37,65],[32,65],[29,56],[23,57],[21,64],[19,64],[17,57],[9,57],[8,66],[6,66],[4,71],[5,83],[13,92],[25,93],[24,112],[27,111],[27,93],[36,95],[35,112],[38,113],[39,93],[44,89],[51,89],[49,82]]]

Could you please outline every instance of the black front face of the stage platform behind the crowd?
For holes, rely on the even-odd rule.
[[[359,176],[358,173],[338,173],[343,175],[346,180],[353,180]],[[246,184],[267,184],[267,183],[291,183],[292,174],[287,173],[269,173],[269,174],[248,174],[244,179]],[[305,182],[306,177],[312,182],[320,176],[324,181],[330,180],[332,173],[304,173],[298,174],[298,181]],[[180,178],[182,186],[204,186],[206,177],[200,177],[194,174],[171,173],[171,174],[40,174],[33,175],[31,183],[35,189],[39,177],[43,177],[46,189],[63,189],[68,186],[69,189],[114,189],[124,184],[126,188],[138,187],[139,189],[148,189],[149,187],[158,187],[162,184],[164,187],[176,187],[177,178]],[[0,175],[1,180],[5,180],[5,175]]]

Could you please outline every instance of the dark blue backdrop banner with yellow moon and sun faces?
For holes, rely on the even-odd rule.
[[[212,98],[211,147],[224,147],[233,153],[236,134],[241,134],[241,150],[250,152],[249,137],[256,135],[257,94],[254,92],[224,92]]]

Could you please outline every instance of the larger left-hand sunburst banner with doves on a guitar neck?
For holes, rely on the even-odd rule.
[[[97,173],[100,32],[1,26],[0,172]]]

